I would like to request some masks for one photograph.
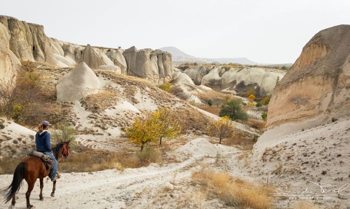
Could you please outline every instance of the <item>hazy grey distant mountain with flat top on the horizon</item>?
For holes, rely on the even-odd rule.
[[[173,47],[173,46],[167,46],[159,48],[162,51],[167,51],[172,55],[172,63],[174,65],[180,65],[185,62],[197,62],[198,64],[205,64],[205,63],[239,63],[239,64],[246,64],[246,65],[254,65],[257,64],[256,62],[253,62],[245,57],[241,58],[199,58],[192,55],[189,55],[180,49]]]

